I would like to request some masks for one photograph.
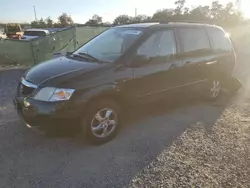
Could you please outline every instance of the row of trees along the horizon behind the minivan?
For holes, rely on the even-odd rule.
[[[237,2],[237,1],[236,1]],[[147,15],[119,15],[117,16],[113,23],[103,22],[103,18],[97,14],[93,15],[85,25],[92,26],[103,26],[103,25],[123,25],[131,23],[141,23],[141,22],[156,22],[156,21],[197,21],[213,23],[221,26],[232,26],[239,24],[243,21],[242,12],[235,7],[233,2],[228,4],[221,4],[219,1],[213,1],[210,5],[196,6],[188,8],[186,6],[186,0],[177,0],[175,2],[175,8],[165,8],[158,10],[153,14],[153,16]],[[47,19],[39,21],[33,21],[31,23],[32,27],[65,27],[73,25],[74,22],[72,18],[63,13],[58,17],[57,22],[48,17]]]

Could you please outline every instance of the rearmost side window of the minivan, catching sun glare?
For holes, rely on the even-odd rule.
[[[217,28],[207,28],[213,49],[219,51],[231,51],[232,44],[226,33]]]

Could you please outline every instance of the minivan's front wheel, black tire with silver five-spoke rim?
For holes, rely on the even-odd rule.
[[[83,136],[93,144],[103,144],[112,140],[119,130],[120,106],[102,99],[87,106],[85,119],[81,121]]]

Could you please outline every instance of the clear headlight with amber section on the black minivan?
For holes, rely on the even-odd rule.
[[[74,91],[75,91],[74,89],[45,87],[35,95],[34,99],[40,101],[52,101],[52,102],[69,100]]]

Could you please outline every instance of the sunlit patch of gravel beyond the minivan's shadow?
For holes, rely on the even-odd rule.
[[[188,129],[129,187],[250,187],[250,104],[237,101],[211,132]]]

